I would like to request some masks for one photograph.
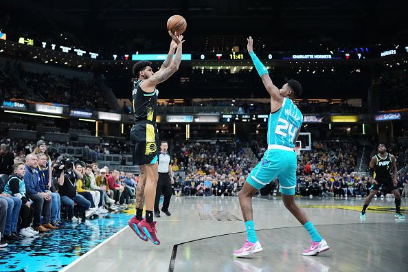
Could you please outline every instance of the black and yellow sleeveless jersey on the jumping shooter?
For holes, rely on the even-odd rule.
[[[146,93],[140,88],[142,80],[133,83],[133,114],[135,122],[150,121],[156,122],[157,115],[157,96],[159,90],[155,89],[152,93]]]

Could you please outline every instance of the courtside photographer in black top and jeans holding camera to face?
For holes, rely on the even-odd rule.
[[[91,202],[87,201],[84,196],[76,193],[76,181],[82,179],[83,176],[73,166],[73,159],[60,159],[60,164],[55,168],[58,177],[58,192],[61,196],[61,203],[65,205],[67,211],[67,220],[82,222],[86,219],[85,211],[91,207]],[[73,207],[76,203],[76,216],[73,214]],[[78,217],[77,217],[78,216]]]

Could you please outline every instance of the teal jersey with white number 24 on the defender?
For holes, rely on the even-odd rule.
[[[297,131],[302,126],[303,115],[292,100],[284,98],[279,111],[269,114],[268,145],[277,144],[294,148]]]

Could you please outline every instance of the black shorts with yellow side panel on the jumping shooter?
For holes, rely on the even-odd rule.
[[[159,154],[159,133],[154,123],[137,122],[131,129],[133,165],[156,163]]]

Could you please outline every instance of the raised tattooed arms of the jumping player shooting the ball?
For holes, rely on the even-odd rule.
[[[172,76],[179,69],[179,65],[181,63],[181,53],[183,51],[183,39],[181,36],[174,36],[172,32],[169,31],[170,36],[175,43],[177,43],[177,51],[174,56],[174,59],[170,63],[170,65],[163,69],[160,73],[155,73],[153,76],[150,76],[147,80],[143,80],[141,82],[140,87],[146,92],[153,92],[155,91],[155,87],[157,84],[167,80]]]

